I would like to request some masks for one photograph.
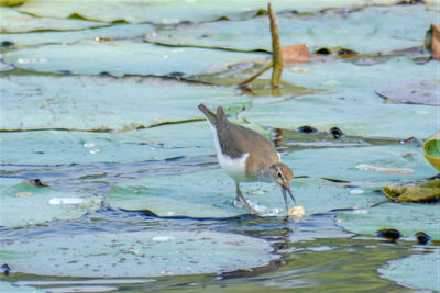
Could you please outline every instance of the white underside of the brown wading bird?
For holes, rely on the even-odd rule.
[[[246,159],[249,157],[249,153],[245,153],[239,158],[231,158],[228,155],[223,154],[221,150],[219,137],[217,136],[217,129],[213,125],[209,125],[211,126],[213,133],[217,159],[219,160],[221,169],[223,169],[223,171],[237,182],[248,181],[249,178],[246,178]]]

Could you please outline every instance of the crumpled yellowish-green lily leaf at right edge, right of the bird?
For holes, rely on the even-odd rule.
[[[384,193],[396,202],[431,202],[440,199],[440,180],[416,187],[384,187]]]

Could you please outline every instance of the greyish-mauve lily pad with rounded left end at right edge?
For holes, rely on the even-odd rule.
[[[440,80],[420,80],[383,87],[376,92],[387,100],[408,104],[440,105]]]

